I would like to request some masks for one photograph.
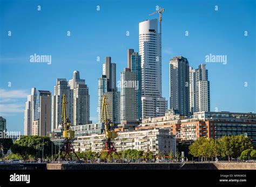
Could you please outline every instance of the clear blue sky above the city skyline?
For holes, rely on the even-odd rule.
[[[208,54],[227,55],[227,64],[206,63],[211,111],[256,112],[254,1],[0,2],[0,116],[9,131],[23,133],[23,110],[32,87],[53,92],[56,78],[70,80],[73,70],[80,71],[90,89],[91,120],[97,121],[97,80],[105,56],[117,63],[120,80],[127,49],[138,51],[139,22],[158,18],[148,16],[156,6],[165,8],[163,97],[169,100],[171,57],[183,55],[197,68]],[[35,53],[51,55],[52,63],[31,63],[29,56]]]

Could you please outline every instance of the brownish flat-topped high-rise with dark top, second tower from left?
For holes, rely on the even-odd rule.
[[[51,92],[38,90],[31,135],[46,136],[51,131]]]

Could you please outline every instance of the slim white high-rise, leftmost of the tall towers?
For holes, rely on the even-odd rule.
[[[24,135],[31,135],[32,125],[34,120],[35,108],[36,108],[36,88],[31,89],[31,95],[28,95],[28,99],[25,103],[24,110]]]

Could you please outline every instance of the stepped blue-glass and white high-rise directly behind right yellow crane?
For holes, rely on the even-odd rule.
[[[103,64],[103,75],[98,79],[98,121],[102,122],[102,100],[106,95],[107,113],[112,123],[120,122],[120,92],[116,87],[116,63],[111,62],[111,57],[106,57]]]

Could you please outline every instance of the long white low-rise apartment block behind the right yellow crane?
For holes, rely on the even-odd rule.
[[[78,136],[73,146],[75,151],[85,152],[92,150],[100,153],[104,146],[104,134],[92,134],[88,136]],[[159,153],[169,154],[175,150],[176,142],[169,130],[146,130],[119,132],[117,138],[113,141],[117,151],[127,149],[151,151],[154,155]]]

